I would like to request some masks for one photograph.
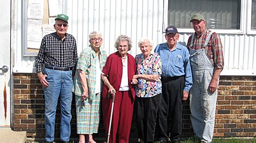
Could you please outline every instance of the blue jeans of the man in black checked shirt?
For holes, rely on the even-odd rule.
[[[71,102],[72,102],[72,71],[57,71],[44,69],[47,75],[48,87],[43,87],[45,99],[45,128],[46,141],[54,141],[54,126],[57,101],[60,96],[61,122],[60,139],[69,141],[71,134]]]

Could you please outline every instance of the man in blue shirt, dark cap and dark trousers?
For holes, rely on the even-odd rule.
[[[182,132],[182,100],[188,99],[190,87],[193,85],[187,47],[177,43],[179,38],[175,26],[165,29],[167,43],[156,46],[155,52],[162,60],[162,93],[163,99],[159,108],[159,139],[168,141],[168,125],[170,124],[171,142],[180,142]],[[170,115],[169,115],[170,114]]]

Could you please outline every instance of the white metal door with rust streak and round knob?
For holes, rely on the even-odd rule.
[[[11,2],[0,1],[0,127],[10,126]]]

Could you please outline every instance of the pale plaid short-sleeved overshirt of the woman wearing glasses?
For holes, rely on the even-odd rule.
[[[103,70],[107,60],[106,51],[103,50],[103,47],[100,47],[99,51],[99,62],[100,62],[100,70]],[[78,76],[77,70],[82,70],[86,73],[86,80],[88,85],[88,96],[89,99],[93,99],[95,97],[95,85],[96,85],[96,75],[97,75],[97,67],[96,62],[98,61],[96,53],[91,45],[88,48],[84,49],[81,52],[81,55],[78,59],[78,64],[76,65],[76,72],[73,83],[73,92],[77,96],[81,96],[84,90],[82,89],[82,85],[80,82],[80,78]],[[102,91],[103,83],[101,83],[100,91]]]

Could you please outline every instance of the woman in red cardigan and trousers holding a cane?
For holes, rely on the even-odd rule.
[[[131,39],[128,36],[120,35],[116,40],[115,47],[118,51],[108,56],[101,74],[105,84],[102,100],[103,121],[107,137],[112,107],[112,96],[108,96],[108,94],[112,95],[114,92],[116,97],[110,142],[116,142],[116,138],[118,138],[117,142],[129,142],[135,101],[135,90],[132,84],[137,84],[137,79],[132,79],[136,72],[136,63],[135,58],[127,53],[132,47]]]

